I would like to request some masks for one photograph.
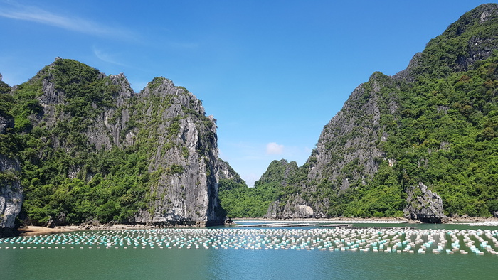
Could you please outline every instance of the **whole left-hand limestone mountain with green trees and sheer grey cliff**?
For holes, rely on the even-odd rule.
[[[56,58],[6,95],[25,222],[223,223],[218,181],[233,172],[184,87],[156,77],[134,93],[122,74]]]

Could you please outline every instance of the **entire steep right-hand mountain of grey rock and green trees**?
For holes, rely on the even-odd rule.
[[[373,73],[324,126],[266,216],[399,216],[420,182],[440,195],[429,196],[443,200],[446,215],[490,215],[498,198],[497,33],[498,6],[485,4],[406,70]]]

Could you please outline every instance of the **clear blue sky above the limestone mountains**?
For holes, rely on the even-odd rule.
[[[482,3],[0,0],[0,73],[17,85],[60,56],[135,92],[167,77],[203,100],[220,157],[253,185],[274,159],[302,165],[355,87]]]

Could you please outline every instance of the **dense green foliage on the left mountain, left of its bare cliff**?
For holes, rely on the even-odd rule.
[[[38,101],[43,79],[64,94],[56,121],[46,119]],[[2,102],[10,104],[16,131],[10,135],[15,141],[2,141],[2,146],[16,144],[9,151],[23,167],[23,216],[34,224],[126,221],[144,206],[153,176],[147,172],[143,151],[95,149],[85,136],[103,109],[115,107],[117,90],[94,68],[56,60],[53,67],[19,85],[9,95],[10,103]]]

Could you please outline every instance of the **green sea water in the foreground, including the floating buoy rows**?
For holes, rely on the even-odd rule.
[[[498,255],[492,253],[498,251],[498,227],[419,228],[115,230],[16,237],[0,239],[0,279],[498,277]],[[441,250],[435,252],[438,244]]]

